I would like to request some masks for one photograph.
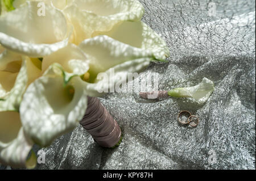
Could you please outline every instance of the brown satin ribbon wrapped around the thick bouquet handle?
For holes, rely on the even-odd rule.
[[[88,96],[88,106],[80,124],[103,147],[111,148],[121,138],[121,129],[117,121],[98,98]]]

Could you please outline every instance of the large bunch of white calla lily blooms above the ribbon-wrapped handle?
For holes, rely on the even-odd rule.
[[[34,167],[34,144],[75,128],[88,96],[126,81],[166,43],[141,22],[135,0],[0,0],[0,163]],[[119,77],[111,77],[114,68]],[[98,80],[99,73],[109,80]]]

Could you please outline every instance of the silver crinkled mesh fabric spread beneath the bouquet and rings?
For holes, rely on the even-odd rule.
[[[213,94],[203,105],[106,94],[100,100],[119,123],[122,144],[101,148],[79,126],[43,148],[46,163],[36,169],[255,169],[255,1],[141,2],[143,22],[162,35],[171,56],[152,63],[139,83],[154,73],[158,90],[170,90],[206,77]],[[199,125],[178,124],[181,110],[199,116]]]

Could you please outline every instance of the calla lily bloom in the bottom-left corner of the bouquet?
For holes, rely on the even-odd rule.
[[[26,167],[33,142],[24,133],[18,112],[0,112],[0,163]],[[34,165],[36,160],[34,160]]]

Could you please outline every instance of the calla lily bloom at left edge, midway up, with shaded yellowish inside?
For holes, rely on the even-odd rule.
[[[27,57],[4,50],[0,54],[0,111],[17,111],[26,87],[40,76]]]

